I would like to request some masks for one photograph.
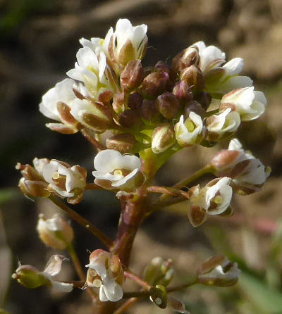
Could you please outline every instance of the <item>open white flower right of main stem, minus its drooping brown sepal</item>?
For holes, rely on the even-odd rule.
[[[226,211],[232,198],[230,177],[222,177],[209,182],[202,189],[197,187],[190,198],[192,206],[204,209],[209,215],[218,215]]]

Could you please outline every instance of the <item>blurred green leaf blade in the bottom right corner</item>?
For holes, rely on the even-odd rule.
[[[282,313],[282,294],[276,289],[268,287],[264,282],[257,280],[256,277],[241,273],[238,285],[243,294],[262,313],[281,314]]]

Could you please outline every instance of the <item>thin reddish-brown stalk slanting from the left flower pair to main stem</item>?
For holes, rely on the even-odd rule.
[[[87,230],[89,230],[95,237],[97,237],[102,243],[107,246],[109,249],[113,246],[113,241],[109,239],[109,237],[104,234],[101,230],[99,230],[97,227],[92,225],[92,223],[80,216],[78,213],[73,211],[73,209],[69,208],[61,199],[59,199],[57,196],[51,195],[49,196],[49,199],[56,204],[59,208],[61,208],[62,211],[67,213],[73,220],[78,222],[82,227],[85,227]]]

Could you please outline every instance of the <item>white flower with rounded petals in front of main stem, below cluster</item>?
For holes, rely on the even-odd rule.
[[[94,158],[94,183],[106,189],[134,189],[141,169],[140,158],[105,149]]]

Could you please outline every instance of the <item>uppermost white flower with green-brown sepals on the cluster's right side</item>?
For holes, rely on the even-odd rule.
[[[204,73],[205,89],[209,94],[217,96],[252,86],[250,77],[238,75],[243,70],[243,58],[233,58],[226,63],[225,54],[216,46],[206,46],[204,42],[196,42],[192,46],[199,50],[199,67]]]

